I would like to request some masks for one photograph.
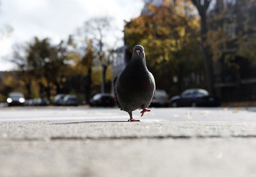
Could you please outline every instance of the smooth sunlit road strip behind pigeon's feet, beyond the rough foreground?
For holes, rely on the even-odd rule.
[[[141,121],[256,121],[255,107],[239,108],[150,108],[140,117],[140,111],[133,116]],[[102,107],[5,107],[0,108],[0,122],[17,121],[125,121],[127,112],[118,108]]]

